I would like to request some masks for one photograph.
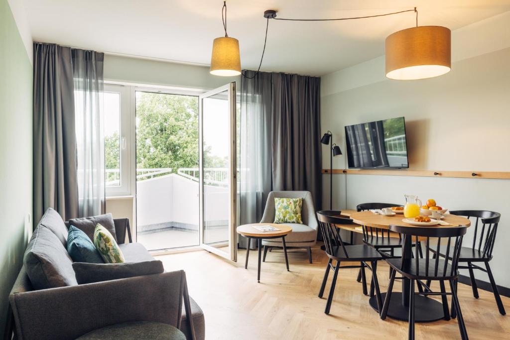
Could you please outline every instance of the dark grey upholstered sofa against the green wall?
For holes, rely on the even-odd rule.
[[[64,223],[62,219],[61,222],[57,221],[55,216],[54,222],[47,220],[45,224]],[[141,244],[132,243],[129,220],[114,219],[114,225],[117,243],[127,262],[154,260]],[[41,226],[41,222],[37,228],[45,228],[46,233],[46,229],[57,230],[52,226]],[[34,236],[41,238],[37,228]],[[126,236],[129,243],[124,242]],[[54,240],[57,241],[44,244],[47,248],[45,256],[54,256],[55,252],[63,254],[61,248],[65,250],[65,247],[61,240]],[[63,267],[68,268],[67,259],[59,260]],[[72,270],[72,260],[70,257],[68,260],[71,261]],[[66,273],[65,268],[60,272]],[[73,279],[67,278],[67,282]],[[193,330],[196,339],[204,339],[203,312],[193,299],[187,300],[187,296],[184,271],[35,290],[26,265],[23,265],[9,296],[5,337],[10,338],[14,328],[17,339],[74,339],[109,325],[151,321],[177,327],[187,339],[193,338]],[[193,328],[190,328],[187,315],[191,315]]]

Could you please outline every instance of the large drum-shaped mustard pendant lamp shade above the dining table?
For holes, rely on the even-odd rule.
[[[386,38],[386,76],[397,80],[436,77],[451,69],[451,31],[420,26]]]

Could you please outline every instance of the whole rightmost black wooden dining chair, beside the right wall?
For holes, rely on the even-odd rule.
[[[498,287],[496,285],[496,282],[494,281],[494,276],[492,275],[491,267],[489,266],[489,261],[492,259],[492,250],[494,249],[494,242],[496,241],[496,231],[498,229],[498,223],[501,215],[496,212],[483,210],[459,210],[452,211],[450,212],[450,214],[465,216],[467,218],[476,217],[473,244],[471,247],[462,247],[461,255],[460,258],[458,259],[459,263],[467,264],[467,266],[459,265],[458,268],[469,270],[471,288],[473,289],[473,296],[476,299],[478,299],[478,288],[476,286],[476,280],[473,270],[478,269],[481,270],[482,272],[486,272],[489,276],[489,280],[491,281],[492,292],[494,293],[494,298],[496,299],[496,304],[498,305],[499,312],[501,313],[501,315],[505,315],[506,314],[505,308],[503,307],[503,303],[501,302]],[[481,226],[478,227],[480,220]],[[431,251],[436,254],[435,251],[433,250]],[[440,249],[440,256],[445,257],[444,247]],[[473,263],[484,263],[485,268],[481,268],[477,265],[474,265]],[[453,308],[452,315],[453,316],[455,315]]]

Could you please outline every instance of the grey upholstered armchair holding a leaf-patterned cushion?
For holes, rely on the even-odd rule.
[[[292,227],[292,232],[285,237],[287,248],[306,248],[308,258],[312,263],[312,247],[317,243],[317,218],[315,217],[315,208],[312,201],[312,194],[309,191],[271,191],[267,197],[264,216],[261,223],[274,222],[274,198],[302,198],[303,205],[301,208],[301,219],[303,224],[285,223]],[[273,247],[282,247],[283,243],[280,239],[262,240],[264,246],[264,258],[266,260],[267,251]]]

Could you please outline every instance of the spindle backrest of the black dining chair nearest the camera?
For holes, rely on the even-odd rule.
[[[464,234],[466,234],[467,227],[466,226],[458,226],[458,227],[402,227],[398,225],[390,225],[390,230],[401,233],[404,236],[404,246],[402,247],[402,254],[404,254],[407,249],[407,242],[405,242],[406,238],[411,238],[411,243],[415,243],[415,266],[416,272],[420,272],[420,259],[418,254],[418,238],[426,238],[425,243],[425,275],[428,276],[453,276],[457,272],[458,267],[458,258],[461,252],[462,247],[462,239]],[[436,244],[436,253],[443,254],[444,257],[444,267],[441,271],[439,271],[439,259],[441,256],[436,256],[436,258],[430,259],[429,249],[433,250],[433,245],[430,245],[430,238],[437,239]],[[423,243],[423,241],[421,241]],[[446,249],[441,249],[441,244],[446,246]],[[453,245],[452,245],[453,244]],[[411,247],[411,252],[413,251],[413,247]],[[449,258],[451,258],[451,270],[447,272],[447,267]],[[404,256],[402,256],[401,268],[404,265]],[[433,273],[429,272],[429,261],[435,261],[433,266]],[[441,275],[440,275],[441,274]]]

